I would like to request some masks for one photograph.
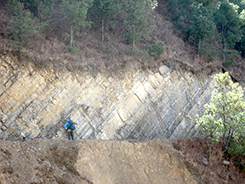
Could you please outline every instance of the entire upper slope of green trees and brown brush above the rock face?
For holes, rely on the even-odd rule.
[[[225,67],[243,81],[244,6],[244,0],[4,0],[0,50],[78,70],[180,61],[209,74]]]

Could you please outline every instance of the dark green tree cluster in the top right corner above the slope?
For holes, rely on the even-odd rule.
[[[232,64],[234,49],[245,56],[244,8],[244,0],[169,0],[171,18],[184,39],[210,59],[221,53],[223,65]]]

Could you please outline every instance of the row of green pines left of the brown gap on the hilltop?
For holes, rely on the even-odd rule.
[[[69,37],[67,46],[72,50],[76,47],[74,32],[101,29],[103,45],[108,40],[107,33],[120,27],[123,42],[134,48],[153,25],[151,3],[149,0],[8,0],[4,7],[10,21],[5,22],[4,36],[13,39],[20,48],[25,47],[35,33],[56,36],[61,41]]]

